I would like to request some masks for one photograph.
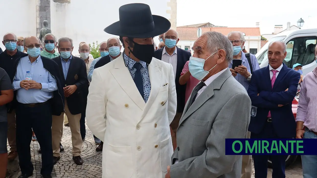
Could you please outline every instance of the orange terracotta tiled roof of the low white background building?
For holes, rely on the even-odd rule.
[[[246,36],[261,36],[260,28],[230,28],[230,27],[203,27],[202,34],[209,31],[220,32],[223,35],[228,35],[231,31],[240,31],[245,33]],[[197,27],[177,27],[179,39],[181,40],[196,40]]]

